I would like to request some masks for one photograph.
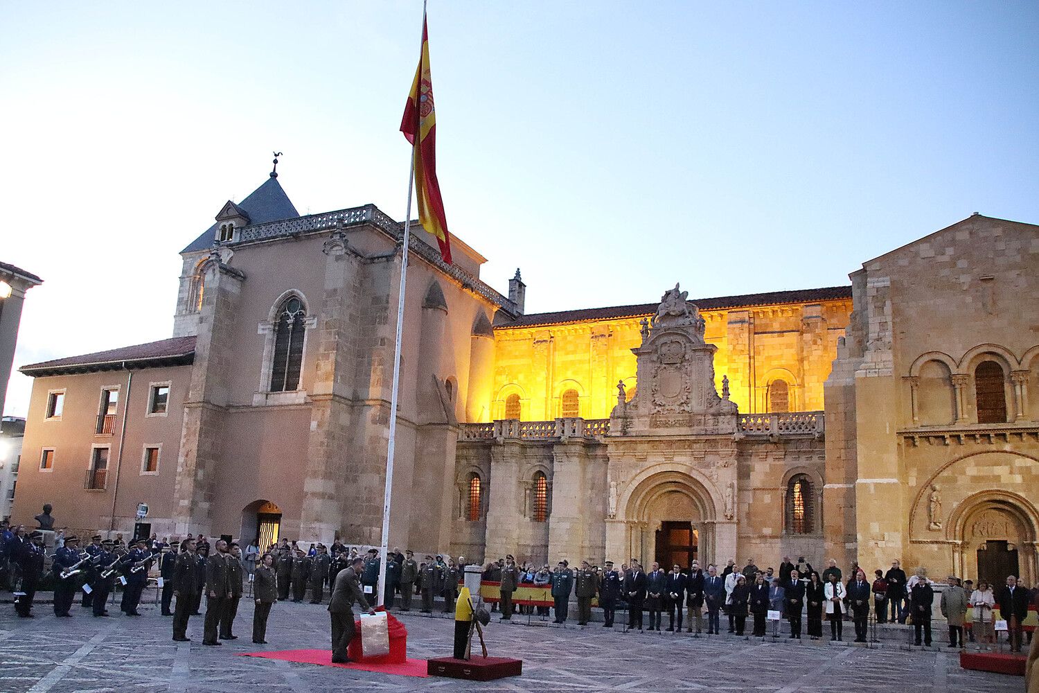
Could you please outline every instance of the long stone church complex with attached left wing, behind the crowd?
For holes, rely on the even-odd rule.
[[[390,542],[1034,581],[1037,232],[976,215],[850,287],[530,315],[518,271],[501,294],[419,230]],[[401,238],[274,176],[227,203],[172,338],[23,367],[15,518],[129,532],[143,502],[160,534],[377,544]]]

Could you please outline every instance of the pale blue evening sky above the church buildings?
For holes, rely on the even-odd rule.
[[[271,152],[404,216],[422,5],[0,4],[16,369],[171,335],[178,252]],[[1035,2],[432,0],[451,231],[527,312],[847,285],[973,212],[1039,223]],[[25,416],[14,374],[4,414]]]

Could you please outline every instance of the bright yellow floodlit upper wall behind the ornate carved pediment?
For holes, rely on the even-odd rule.
[[[722,376],[728,378],[730,399],[741,412],[823,408],[823,382],[851,315],[850,291],[844,293],[823,289],[697,301],[720,304],[701,310],[705,339],[718,347],[719,384]],[[830,295],[836,297],[820,299]],[[608,418],[617,403],[617,382],[623,380],[629,397],[637,388],[632,349],[641,342],[640,321],[655,310],[656,304],[576,312],[594,316],[589,319],[550,313],[527,316],[520,326],[496,327],[491,400],[474,402],[469,421]],[[611,316],[616,313],[627,315]],[[510,416],[517,403],[520,416]]]

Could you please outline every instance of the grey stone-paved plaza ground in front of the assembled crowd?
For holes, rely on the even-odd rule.
[[[205,607],[204,607],[205,608]],[[21,619],[0,605],[0,691],[72,693],[169,691],[240,693],[263,686],[265,693],[312,693],[356,689],[387,691],[667,691],[745,693],[795,691],[909,691],[988,693],[1018,691],[1019,677],[960,669],[950,651],[862,648],[811,643],[754,642],[720,636],[629,633],[601,624],[527,627],[526,617],[487,629],[492,655],[524,660],[524,675],[489,683],[416,678],[349,669],[236,657],[258,649],[328,647],[324,606],[277,604],[270,616],[269,645],[249,642],[252,608],[242,602],[235,631],[222,647],[201,643],[203,618],[188,628],[190,643],[170,640],[171,619],[158,609],[137,618],[117,607],[110,618],[94,618],[74,607],[74,618],[55,618],[50,605]],[[451,652],[452,621],[415,614],[401,617],[408,630],[408,655],[427,659]],[[666,620],[666,619],[665,619]]]

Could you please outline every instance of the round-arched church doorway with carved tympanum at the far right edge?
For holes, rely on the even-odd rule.
[[[1034,584],[1039,577],[1034,509],[997,491],[970,501],[956,524],[961,574],[995,585],[1009,575]]]

